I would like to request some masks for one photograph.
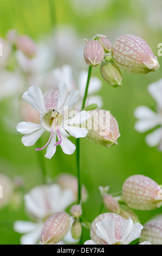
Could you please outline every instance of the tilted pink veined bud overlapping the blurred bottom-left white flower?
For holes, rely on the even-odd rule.
[[[64,212],[56,212],[44,223],[41,242],[44,245],[55,244],[63,239],[70,227],[70,217]]]

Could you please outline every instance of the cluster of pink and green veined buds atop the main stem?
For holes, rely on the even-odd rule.
[[[85,41],[87,65],[96,67],[101,64],[103,80],[113,87],[122,86],[120,69],[132,74],[147,74],[159,68],[157,57],[139,36],[122,35],[113,46],[106,35],[96,34],[91,41]]]

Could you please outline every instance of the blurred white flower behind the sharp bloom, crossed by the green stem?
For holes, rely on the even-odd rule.
[[[79,101],[77,102],[77,109],[81,109],[83,97],[85,95],[86,83],[87,83],[87,71],[81,71],[79,74],[78,82],[76,83],[73,78],[72,67],[69,65],[64,65],[62,68],[57,68],[51,71],[44,83],[46,84],[46,89],[55,88],[57,89],[57,84],[59,82],[64,82],[68,87],[68,92],[72,89],[79,90]],[[86,100],[86,106],[96,103],[99,108],[102,107],[102,97],[99,95],[92,95],[98,93],[101,89],[101,81],[98,77],[91,77],[88,88],[88,97]]]

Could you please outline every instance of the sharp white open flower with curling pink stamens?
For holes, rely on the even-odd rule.
[[[68,95],[67,86],[63,83],[59,84],[59,90],[48,93],[46,97],[43,97],[39,87],[30,87],[23,94],[23,99],[40,113],[41,123],[34,124],[25,121],[18,123],[17,131],[25,134],[22,137],[22,143],[26,147],[32,146],[44,131],[49,131],[48,142],[43,148],[36,149],[36,151],[46,148],[49,144],[45,155],[48,159],[51,159],[55,154],[57,145],[61,146],[65,154],[73,154],[76,147],[66,136],[70,134],[75,138],[86,137],[88,132],[87,129],[74,126],[82,124],[89,118],[86,111],[79,112],[74,117],[69,118],[69,109],[72,109],[77,102],[78,94],[76,90],[72,90]],[[56,136],[58,138],[57,142]]]

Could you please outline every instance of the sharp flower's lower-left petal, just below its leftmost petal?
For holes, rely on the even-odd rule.
[[[23,136],[22,137],[22,143],[26,147],[33,146],[36,143],[36,141],[41,137],[41,135],[43,134],[44,131],[46,131],[46,129],[41,128],[40,130],[38,130],[36,132],[31,132],[31,133]]]

